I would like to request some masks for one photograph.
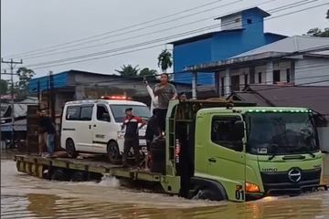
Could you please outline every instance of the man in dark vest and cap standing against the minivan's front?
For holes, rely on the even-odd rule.
[[[133,109],[128,108],[125,110],[126,117],[123,120],[122,130],[126,128],[124,134],[123,143],[123,154],[122,154],[122,165],[124,167],[128,166],[127,157],[128,153],[133,147],[133,153],[135,157],[135,162],[138,165],[140,162],[139,153],[139,130],[146,124],[146,122],[140,118],[133,115]],[[138,124],[142,124],[138,127]]]

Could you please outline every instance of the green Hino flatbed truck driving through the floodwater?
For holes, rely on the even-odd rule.
[[[217,201],[327,190],[322,184],[323,154],[312,110],[173,100],[165,141],[156,145],[155,151],[151,149],[156,166],[152,172],[104,162],[28,156],[16,156],[17,169],[32,174],[33,169],[37,174],[41,165],[41,172],[109,173],[160,184],[165,193]]]

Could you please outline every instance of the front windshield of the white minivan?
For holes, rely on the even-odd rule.
[[[111,111],[115,122],[122,122],[125,117],[125,112],[127,108],[133,108],[133,115],[141,117],[143,120],[148,120],[151,117],[151,112],[146,106],[140,105],[110,105]]]

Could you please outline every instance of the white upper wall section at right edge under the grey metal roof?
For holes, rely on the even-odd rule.
[[[329,86],[329,58],[304,57],[296,60],[295,84]]]

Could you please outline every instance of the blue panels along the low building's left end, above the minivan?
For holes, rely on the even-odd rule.
[[[62,72],[53,75],[54,77],[54,89],[66,87],[68,85],[68,72]],[[49,77],[33,78],[31,79],[28,89],[31,93],[37,93],[37,83],[39,81],[40,91],[47,91],[49,89]]]

